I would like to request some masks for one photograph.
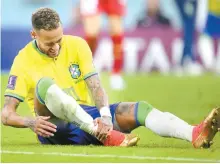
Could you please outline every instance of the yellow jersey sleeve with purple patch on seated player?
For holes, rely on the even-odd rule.
[[[12,64],[4,95],[24,101],[29,88],[27,80],[24,64],[17,56]]]

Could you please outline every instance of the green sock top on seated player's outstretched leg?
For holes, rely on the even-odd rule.
[[[153,106],[146,101],[137,102],[136,120],[138,125],[145,125],[145,119],[152,109]]]

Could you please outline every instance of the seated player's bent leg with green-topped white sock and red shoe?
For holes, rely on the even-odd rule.
[[[76,100],[60,89],[51,78],[42,78],[36,87],[35,110],[38,115],[57,117],[79,126],[87,133],[97,133],[98,124],[85,112]],[[125,135],[112,130],[102,141],[106,146],[133,146],[137,144],[138,137]]]

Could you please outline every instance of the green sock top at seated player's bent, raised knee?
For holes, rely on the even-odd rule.
[[[53,79],[49,77],[43,77],[38,81],[35,94],[36,94],[38,101],[41,104],[45,104],[44,101],[45,101],[47,90],[53,84],[54,84]]]

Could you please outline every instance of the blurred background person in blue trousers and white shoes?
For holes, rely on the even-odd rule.
[[[176,73],[189,75],[201,75],[203,69],[196,61],[194,52],[194,32],[196,22],[196,11],[198,6],[197,0],[175,0],[179,9],[180,17],[183,24],[183,52],[180,63],[177,63]]]

